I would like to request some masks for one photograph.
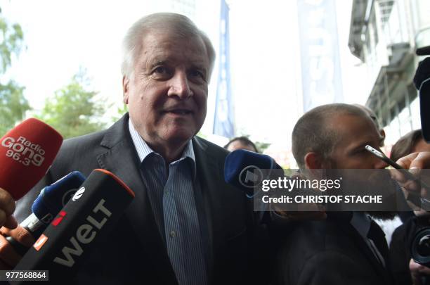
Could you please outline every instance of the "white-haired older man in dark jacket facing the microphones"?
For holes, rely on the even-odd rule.
[[[22,220],[42,186],[100,167],[135,192],[72,283],[243,284],[249,277],[250,219],[245,197],[223,182],[228,152],[195,137],[214,58],[207,36],[185,16],[138,20],[124,38],[129,113],[103,132],[65,141],[44,180],[18,203]],[[19,260],[7,247],[0,256],[10,266]]]

